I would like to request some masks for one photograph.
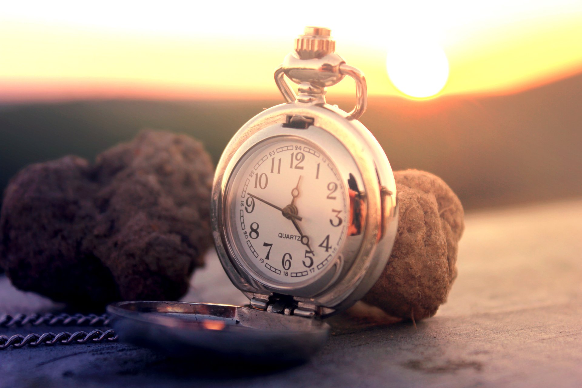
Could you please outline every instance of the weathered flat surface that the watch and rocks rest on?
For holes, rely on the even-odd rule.
[[[208,261],[184,300],[243,303]],[[0,312],[51,308],[0,277]],[[582,386],[582,201],[467,216],[449,302],[416,329],[332,319],[327,346],[292,368],[205,365],[123,343],[54,346],[2,351],[0,386]]]

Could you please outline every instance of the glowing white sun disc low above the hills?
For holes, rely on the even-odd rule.
[[[392,84],[414,98],[434,97],[449,78],[449,60],[434,42],[406,40],[391,44],[386,70]]]

